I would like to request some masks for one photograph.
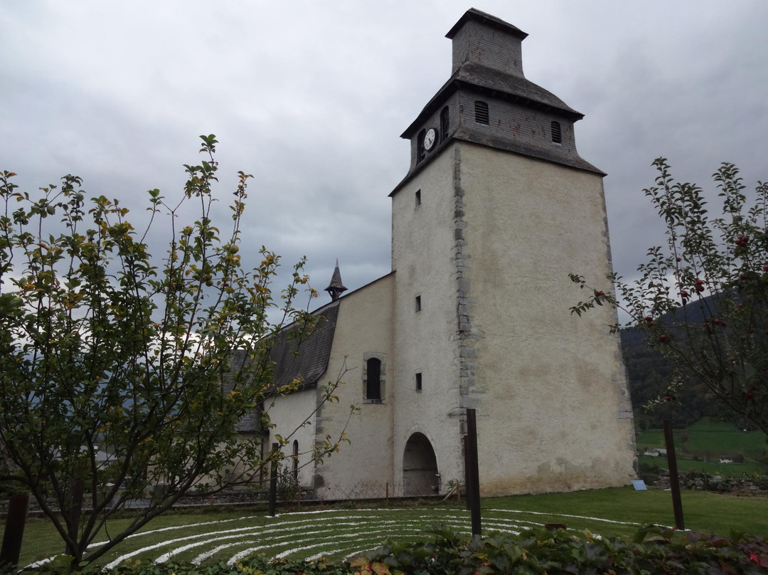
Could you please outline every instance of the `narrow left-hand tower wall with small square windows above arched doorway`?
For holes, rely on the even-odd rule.
[[[454,146],[392,197],[395,282],[396,420],[394,460],[402,479],[406,442],[415,432],[432,444],[441,487],[463,476],[455,363]],[[421,203],[416,205],[416,191]],[[421,310],[416,311],[415,297]],[[422,391],[415,374],[422,374]]]

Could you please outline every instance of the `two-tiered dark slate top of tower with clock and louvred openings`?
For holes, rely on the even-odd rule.
[[[525,78],[522,41],[528,34],[471,8],[445,36],[452,41],[451,76],[402,133],[411,141],[411,166],[392,194],[453,140],[604,175],[576,151],[573,125],[584,115]],[[484,112],[478,113],[478,102]],[[423,135],[430,128],[437,143],[427,150]]]

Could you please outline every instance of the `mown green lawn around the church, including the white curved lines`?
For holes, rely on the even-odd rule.
[[[604,536],[631,537],[641,523],[674,523],[668,492],[634,491],[631,487],[488,498],[482,506],[485,534],[543,523],[565,523],[569,530],[588,529]],[[735,529],[768,535],[768,497],[686,491],[683,507],[686,526],[692,530],[727,535]],[[127,520],[115,521],[110,532],[116,533],[125,522]],[[437,524],[457,532],[470,530],[468,512],[455,502],[386,509],[362,505],[352,508],[350,504],[324,506],[281,513],[274,518],[266,517],[263,510],[243,508],[167,514],[150,523],[144,534],[125,540],[100,564],[106,565],[133,552],[137,554],[131,560],[156,560],[182,547],[189,548],[181,550],[173,559],[189,561],[201,553],[214,553],[217,546],[228,547],[214,553],[210,560],[226,559],[254,546],[271,556],[286,553],[291,557],[313,557],[322,553],[346,557],[349,553],[376,547],[387,538],[424,537],[421,531]],[[165,530],[157,531],[159,529]],[[184,541],[180,541],[182,539]],[[170,540],[176,543],[164,543]],[[49,557],[62,547],[48,521],[30,520],[25,530],[22,565]]]

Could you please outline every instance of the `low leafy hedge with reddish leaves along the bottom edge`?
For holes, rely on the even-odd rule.
[[[416,543],[387,543],[351,562],[270,560],[254,554],[233,565],[127,563],[113,575],[486,575],[491,573],[768,573],[768,537],[730,538],[648,526],[633,541],[585,532],[528,530],[466,540],[435,527]],[[65,566],[61,563],[59,567]],[[43,567],[62,573],[58,567]],[[0,575],[5,572],[0,571]]]

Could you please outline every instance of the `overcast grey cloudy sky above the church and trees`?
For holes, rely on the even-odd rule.
[[[409,168],[399,135],[449,78],[445,33],[471,7],[5,0],[0,169],[28,190],[78,174],[143,218],[146,191],[180,194],[198,135],[213,133],[220,197],[238,170],[254,175],[245,244],[286,264],[306,254],[320,290],[339,258],[346,287],[360,287],[390,270],[388,194]],[[721,161],[750,189],[768,179],[765,0],[474,7],[527,32],[526,77],[585,115],[576,143],[608,174],[619,274],[663,241],[642,194],[654,158],[708,188]]]

